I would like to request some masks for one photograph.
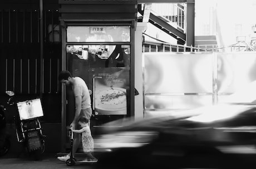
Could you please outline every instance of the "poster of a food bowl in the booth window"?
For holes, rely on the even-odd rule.
[[[100,68],[93,76],[95,115],[126,115],[129,74],[124,68]]]

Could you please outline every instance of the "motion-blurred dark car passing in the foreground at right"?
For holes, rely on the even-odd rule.
[[[255,105],[214,105],[107,125],[120,127],[104,127],[95,137],[96,168],[256,167]]]

